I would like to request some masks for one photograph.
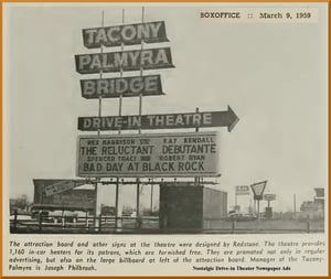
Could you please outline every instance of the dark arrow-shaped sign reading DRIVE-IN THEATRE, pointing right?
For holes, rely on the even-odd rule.
[[[225,111],[78,117],[78,130],[137,130],[227,127],[232,131],[239,118],[228,106]]]

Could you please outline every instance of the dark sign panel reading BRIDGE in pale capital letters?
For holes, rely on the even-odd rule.
[[[87,99],[163,95],[160,75],[82,79],[81,89]]]

